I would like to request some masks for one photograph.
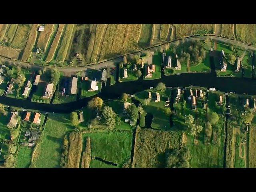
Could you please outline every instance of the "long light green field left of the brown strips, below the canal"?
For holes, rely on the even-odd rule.
[[[64,135],[71,130],[74,129],[70,125],[69,116],[67,114],[48,115],[44,131],[40,136],[41,142],[34,148],[32,167],[60,167],[63,138]]]

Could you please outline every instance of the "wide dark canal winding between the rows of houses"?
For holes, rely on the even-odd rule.
[[[156,87],[159,82],[166,84],[166,87],[188,87],[192,85],[216,88],[223,92],[256,95],[256,80],[251,78],[216,77],[215,70],[212,70],[210,73],[184,73],[171,76],[165,76],[162,72],[161,78],[156,80],[143,80],[143,78],[139,78],[137,81],[122,83],[116,80],[114,85],[109,86],[109,83],[107,83],[106,86],[102,86],[102,91],[96,96],[103,100],[115,99],[119,98],[124,92],[135,94],[150,87]],[[84,98],[76,102],[64,104],[45,104],[0,96],[0,103],[44,112],[70,113],[86,106],[90,99]]]

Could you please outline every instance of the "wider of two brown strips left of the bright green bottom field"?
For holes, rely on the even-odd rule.
[[[82,132],[72,132],[69,136],[68,168],[79,168],[82,152]]]

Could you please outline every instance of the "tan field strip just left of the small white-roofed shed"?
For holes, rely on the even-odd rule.
[[[34,44],[36,42],[36,36],[37,36],[36,29],[37,29],[37,27],[38,27],[38,24],[33,24],[32,28],[30,30],[30,34],[28,36],[26,47],[25,47],[23,55],[22,55],[22,60],[23,61],[28,60],[28,58],[31,55],[32,48],[33,48],[33,46],[34,46]]]

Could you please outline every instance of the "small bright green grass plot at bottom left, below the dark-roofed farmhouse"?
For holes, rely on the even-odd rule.
[[[32,148],[20,148],[17,155],[16,168],[28,168],[31,163]]]

